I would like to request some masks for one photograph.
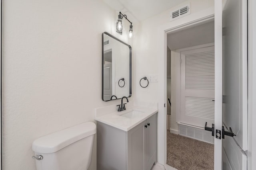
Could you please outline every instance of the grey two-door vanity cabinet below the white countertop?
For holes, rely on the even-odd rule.
[[[98,170],[150,170],[157,157],[157,113],[123,131],[97,122]]]

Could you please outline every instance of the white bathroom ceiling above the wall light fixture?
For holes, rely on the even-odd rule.
[[[138,22],[155,16],[187,0],[103,0],[111,8]]]

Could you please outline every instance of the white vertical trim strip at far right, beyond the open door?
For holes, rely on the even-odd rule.
[[[248,0],[248,170],[256,167],[256,1]]]

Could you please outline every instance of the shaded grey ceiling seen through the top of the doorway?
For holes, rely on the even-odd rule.
[[[170,50],[214,43],[214,21],[167,35]]]

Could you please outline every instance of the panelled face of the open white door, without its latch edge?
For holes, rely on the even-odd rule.
[[[223,125],[236,135],[223,139],[223,166],[247,170],[247,0],[227,0],[222,15]]]

